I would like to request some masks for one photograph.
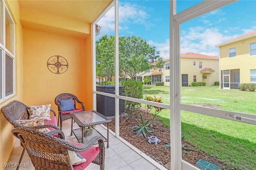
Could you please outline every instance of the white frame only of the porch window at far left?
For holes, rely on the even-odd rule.
[[[2,22],[1,23],[1,30],[0,33],[1,33],[1,38],[2,40],[0,41],[0,50],[2,51],[1,55],[2,55],[2,58],[1,59],[1,66],[2,66],[2,70],[1,70],[1,75],[0,75],[0,83],[1,83],[1,86],[2,88],[0,88],[1,90],[1,96],[0,96],[0,102],[1,101],[4,101],[8,98],[10,98],[11,96],[13,96],[15,94],[15,24],[14,24],[14,21],[12,19],[12,16],[10,15],[10,12],[6,6],[6,4],[4,3],[3,0],[0,0],[0,2],[2,3],[2,6],[1,6],[1,18],[0,18],[0,21]],[[6,38],[5,38],[5,33],[6,33],[6,29],[5,29],[5,19],[6,17],[6,13],[8,14],[9,18],[10,18],[10,21],[12,23],[12,53],[6,49]],[[6,55],[8,55],[8,57],[11,57],[12,59],[12,93],[9,94],[8,96],[6,96]]]

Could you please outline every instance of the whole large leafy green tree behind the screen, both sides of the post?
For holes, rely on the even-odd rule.
[[[107,77],[112,81],[115,72],[115,37],[102,36],[96,41],[96,75]],[[141,76],[152,68],[162,68],[164,62],[159,56],[159,51],[150,46],[145,39],[130,36],[119,37],[119,72],[132,80],[139,72]]]

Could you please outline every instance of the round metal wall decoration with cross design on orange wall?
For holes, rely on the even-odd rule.
[[[48,59],[47,67],[55,74],[62,74],[68,70],[68,61],[64,57],[54,55]]]

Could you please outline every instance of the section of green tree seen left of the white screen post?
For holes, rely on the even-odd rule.
[[[96,41],[96,75],[112,81],[115,74],[115,37],[102,36]]]

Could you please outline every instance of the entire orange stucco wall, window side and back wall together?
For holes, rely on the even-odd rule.
[[[18,100],[27,106],[51,104],[51,108],[58,112],[54,99],[58,94],[67,92],[76,95],[84,102],[86,110],[91,110],[93,106],[91,36],[84,34],[72,36],[73,34],[70,33],[64,35],[61,28],[58,33],[58,31],[35,30],[36,27],[22,27],[18,1],[6,1],[6,5],[15,23],[15,95],[0,102],[0,108],[13,100]],[[90,29],[91,25],[88,25]],[[46,63],[53,55],[60,55],[68,61],[68,70],[63,74],[54,74],[48,70]],[[16,137],[11,133],[12,129],[12,125],[1,113],[1,163],[8,162],[16,141]],[[4,167],[0,166],[0,170],[4,170]]]

